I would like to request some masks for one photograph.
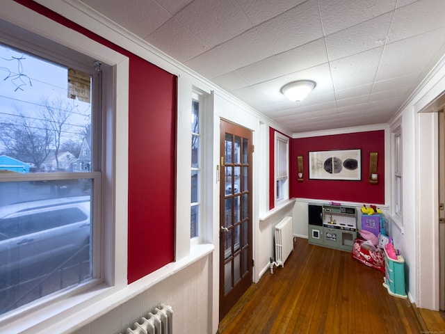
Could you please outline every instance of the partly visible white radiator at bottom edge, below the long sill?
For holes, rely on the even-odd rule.
[[[160,304],[154,312],[135,322],[133,329],[127,328],[127,334],[173,334],[173,310],[169,305]]]

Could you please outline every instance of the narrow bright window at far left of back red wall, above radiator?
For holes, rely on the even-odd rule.
[[[289,138],[275,132],[275,204],[289,199]]]

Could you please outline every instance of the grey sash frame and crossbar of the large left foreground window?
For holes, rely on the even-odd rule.
[[[40,41],[42,45],[37,43]],[[85,289],[85,286],[93,286],[101,283],[103,280],[104,273],[102,271],[102,244],[101,231],[104,230],[102,224],[102,214],[101,214],[101,197],[102,193],[102,141],[104,140],[102,134],[102,75],[101,72],[95,71],[90,63],[85,63],[87,60],[92,60],[90,57],[83,56],[78,52],[61,45],[57,45],[55,42],[49,40],[43,40],[37,37],[36,40],[30,40],[28,38],[22,38],[20,34],[17,34],[15,40],[8,40],[4,33],[0,31],[0,43],[6,47],[11,47],[17,49],[17,51],[23,51],[24,54],[33,56],[35,58],[40,58],[44,61],[49,61],[54,64],[54,66],[61,65],[67,68],[74,68],[76,70],[81,70],[91,75],[92,80],[92,101],[91,101],[91,124],[92,124],[92,152],[96,152],[91,157],[91,164],[94,166],[92,171],[87,172],[40,172],[40,173],[27,173],[27,174],[17,174],[17,173],[0,173],[0,182],[44,182],[44,181],[57,181],[57,180],[81,180],[88,179],[92,182],[92,192],[91,192],[91,221],[92,223],[92,278],[85,283],[79,283],[70,289],[60,289],[53,292],[51,296],[42,296],[39,299],[35,299],[30,303],[39,304],[47,303],[49,300],[59,299],[67,293],[72,294],[76,289]],[[75,61],[75,56],[79,54],[79,61]],[[108,87],[109,88],[109,87]],[[82,154],[82,153],[81,153]],[[65,291],[67,290],[67,291]],[[19,306],[17,310],[25,308],[24,306]],[[15,309],[15,310],[16,310]],[[14,313],[15,310],[6,313]]]

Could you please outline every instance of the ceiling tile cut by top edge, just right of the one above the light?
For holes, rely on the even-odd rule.
[[[394,10],[397,0],[319,0],[325,35]]]

